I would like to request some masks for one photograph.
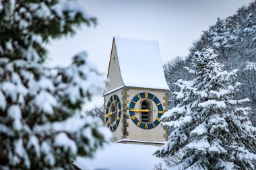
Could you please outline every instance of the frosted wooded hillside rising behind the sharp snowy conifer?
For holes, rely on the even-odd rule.
[[[204,31],[199,40],[193,43],[190,54],[185,60],[177,58],[164,65],[166,81],[171,92],[175,90],[173,83],[179,79],[190,79],[184,67],[191,67],[191,58],[194,52],[211,47],[227,71],[238,69],[235,82],[241,82],[241,89],[235,95],[236,99],[249,98],[249,106],[253,112],[249,115],[256,126],[256,85],[255,69],[247,69],[247,65],[256,63],[256,1],[248,6],[241,7],[236,13],[226,19],[217,19],[214,26]],[[249,65],[249,66],[250,66]],[[248,66],[248,67],[249,67]],[[174,97],[170,95],[170,108],[175,106]]]

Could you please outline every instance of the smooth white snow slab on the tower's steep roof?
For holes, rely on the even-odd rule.
[[[157,41],[115,37],[115,45],[125,86],[169,89]]]

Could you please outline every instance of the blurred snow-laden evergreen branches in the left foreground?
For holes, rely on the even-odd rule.
[[[0,169],[73,169],[110,140],[96,118],[78,118],[102,79],[82,52],[49,68],[45,45],[95,24],[74,1],[0,0]]]

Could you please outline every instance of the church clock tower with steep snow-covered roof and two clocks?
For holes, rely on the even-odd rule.
[[[104,89],[104,122],[117,142],[162,146],[168,85],[158,42],[113,38]]]

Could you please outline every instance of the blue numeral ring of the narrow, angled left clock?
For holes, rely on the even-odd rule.
[[[114,131],[117,129],[117,127],[119,126],[119,122],[120,122],[120,120],[121,120],[121,111],[122,111],[122,110],[121,110],[121,101],[120,101],[119,97],[118,97],[117,95],[111,95],[111,96],[110,96],[110,99],[108,100],[108,104],[106,105],[106,112],[105,112],[105,115],[108,114],[109,107],[110,107],[110,105],[111,105],[111,103],[112,103],[113,101],[117,101],[117,105],[118,105],[117,120],[115,120],[115,122],[116,122],[115,125],[110,124],[110,123],[108,122],[108,120],[109,120],[108,117],[105,118],[106,126],[108,126],[108,128],[109,128],[112,132],[114,132]]]

